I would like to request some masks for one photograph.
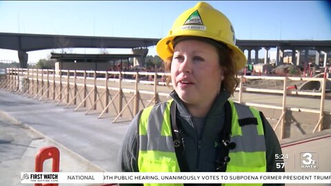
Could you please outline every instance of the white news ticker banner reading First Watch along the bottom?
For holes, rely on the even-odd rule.
[[[21,183],[331,183],[331,172],[21,172]]]

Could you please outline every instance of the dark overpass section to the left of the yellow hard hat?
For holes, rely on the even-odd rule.
[[[0,33],[0,48],[17,50],[19,65],[27,68],[28,53],[35,50],[56,48],[132,48],[133,54],[144,58],[148,47],[156,45],[159,39],[125,37],[86,37],[50,34]],[[139,61],[139,57],[137,58]],[[141,59],[140,59],[141,60]]]

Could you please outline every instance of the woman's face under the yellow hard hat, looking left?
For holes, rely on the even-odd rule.
[[[171,80],[174,90],[186,104],[212,104],[223,79],[223,68],[214,45],[197,40],[177,43],[172,57]]]

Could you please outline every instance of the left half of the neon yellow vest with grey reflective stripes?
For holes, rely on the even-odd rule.
[[[180,172],[172,139],[170,104],[147,107],[139,120],[139,172]],[[160,125],[160,123],[162,123]]]

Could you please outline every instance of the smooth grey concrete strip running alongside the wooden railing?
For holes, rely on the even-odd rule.
[[[116,170],[121,139],[128,122],[113,124],[110,119],[72,112],[61,106],[28,99],[0,90],[0,110],[26,123],[58,143],[74,149],[83,158],[109,172]]]

